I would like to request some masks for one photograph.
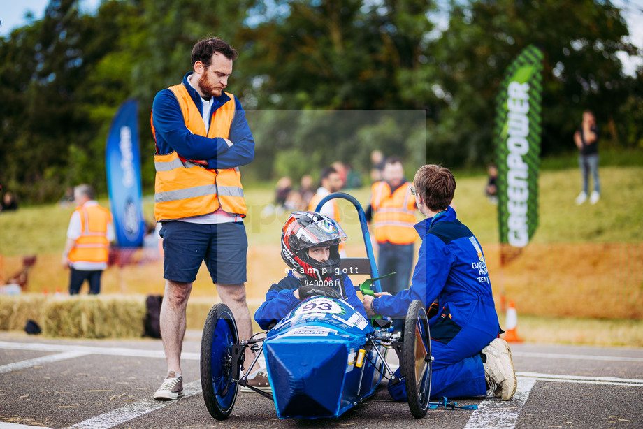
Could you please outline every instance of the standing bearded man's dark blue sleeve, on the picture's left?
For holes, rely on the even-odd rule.
[[[179,102],[169,89],[154,97],[152,123],[159,154],[175,151],[185,159],[209,160],[228,152],[228,143],[223,138],[196,136],[187,129]]]

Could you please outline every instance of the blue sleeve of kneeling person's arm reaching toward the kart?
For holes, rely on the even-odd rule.
[[[411,286],[395,296],[373,300],[373,310],[382,316],[405,316],[413,300],[421,300],[428,308],[438,298],[451,270],[449,248],[435,235],[426,235],[419,249]]]

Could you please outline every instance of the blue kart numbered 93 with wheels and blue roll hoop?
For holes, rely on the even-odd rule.
[[[358,201],[344,193],[326,196],[317,211],[332,198],[351,201],[359,215],[368,259],[342,259],[342,268],[361,266],[370,279],[363,293],[380,291],[377,266],[370,246],[366,218]],[[349,271],[350,272],[350,271]],[[359,272],[365,272],[363,269]],[[416,418],[426,415],[431,392],[431,340],[426,309],[414,300],[402,333],[393,333],[390,321],[368,321],[345,300],[312,296],[299,303],[263,337],[240,341],[231,310],[212,307],[201,340],[201,387],[208,412],[226,419],[234,407],[239,386],[265,354],[272,394],[251,390],[275,402],[281,419],[338,417],[369,398],[383,378],[405,383],[409,408]],[[244,362],[245,349],[255,352]],[[393,349],[400,361],[400,375],[393,374],[386,354]]]

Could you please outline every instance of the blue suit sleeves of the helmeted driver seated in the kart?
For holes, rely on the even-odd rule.
[[[364,305],[361,303],[361,300],[357,298],[357,293],[355,292],[351,279],[349,279],[347,275],[342,274],[342,282],[346,293],[346,302],[352,305],[359,314],[368,320]],[[273,286],[270,286],[268,293],[266,293],[266,301],[261,304],[261,307],[254,313],[254,320],[259,323],[261,329],[269,329],[270,325],[286,317],[298,303],[301,303],[301,301],[294,296],[294,291],[299,289],[299,286],[299,279],[292,274],[292,271],[288,272],[288,275],[281,279],[279,283],[273,283]]]

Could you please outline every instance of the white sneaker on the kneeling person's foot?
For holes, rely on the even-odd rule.
[[[510,400],[516,393],[518,380],[509,345],[505,340],[496,338],[482,349],[482,353],[486,355],[486,362],[482,365],[487,387],[490,388],[490,384],[495,384],[493,394],[503,400]]]

